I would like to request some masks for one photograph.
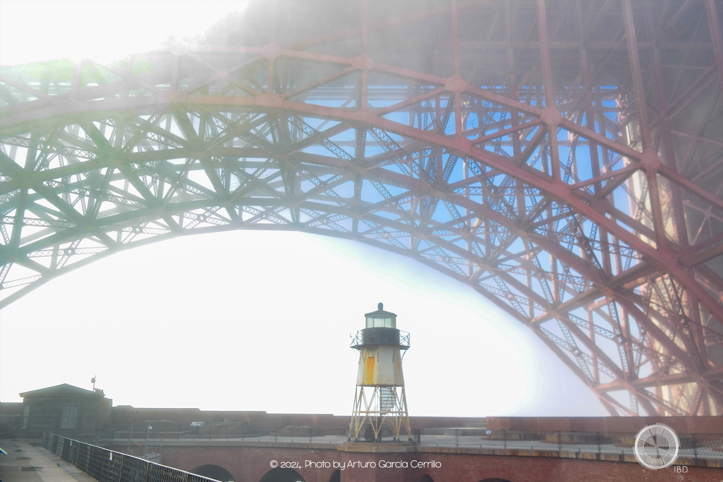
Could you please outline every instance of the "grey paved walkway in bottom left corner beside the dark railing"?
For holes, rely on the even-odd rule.
[[[0,447],[8,453],[0,454],[0,482],[95,482],[43,447],[8,439],[0,440]]]

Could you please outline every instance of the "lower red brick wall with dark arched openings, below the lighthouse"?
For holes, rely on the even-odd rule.
[[[120,447],[114,447],[119,450]],[[121,450],[122,451],[122,450]],[[297,462],[296,471],[305,482],[328,482],[334,462],[344,465],[341,482],[420,482],[427,474],[434,482],[479,482],[500,478],[510,482],[720,482],[723,470],[688,467],[687,473],[675,468],[648,470],[634,462],[610,462],[558,457],[473,455],[444,452],[365,453],[342,452],[335,448],[301,447],[163,447],[163,465],[193,470],[213,464],[228,470],[236,482],[258,482],[271,470],[271,461]],[[306,461],[329,462],[329,467],[307,467]],[[427,468],[412,467],[413,461]],[[380,467],[385,462],[406,462],[406,468]],[[349,467],[349,462],[354,466]],[[375,468],[371,465],[374,462]],[[359,467],[358,465],[361,465]],[[400,464],[403,465],[403,464]],[[432,467],[430,465],[438,465]]]

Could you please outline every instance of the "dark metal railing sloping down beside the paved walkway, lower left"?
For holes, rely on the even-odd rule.
[[[218,482],[56,434],[43,434],[43,447],[98,482]]]

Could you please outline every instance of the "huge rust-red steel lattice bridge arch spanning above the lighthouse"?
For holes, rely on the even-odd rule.
[[[306,231],[471,285],[612,414],[721,413],[713,1],[341,2],[359,22],[312,38],[280,4],[262,47],[2,68],[1,304],[174,236]]]

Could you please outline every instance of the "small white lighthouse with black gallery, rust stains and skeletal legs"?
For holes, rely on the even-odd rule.
[[[351,348],[359,350],[359,373],[356,376],[354,411],[349,424],[349,440],[381,441],[386,423],[393,440],[406,431],[411,442],[411,429],[404,394],[402,352],[409,348],[409,334],[397,330],[397,315],[384,311],[364,315],[367,327],[356,332]]]

